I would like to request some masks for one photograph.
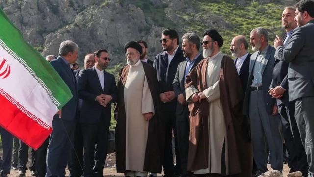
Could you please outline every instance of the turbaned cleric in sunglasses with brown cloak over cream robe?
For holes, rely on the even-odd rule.
[[[252,149],[242,115],[241,82],[233,60],[220,52],[220,34],[208,29],[203,36],[205,59],[186,76],[190,111],[187,168],[196,176],[249,177]],[[248,160],[251,163],[245,163]]]

